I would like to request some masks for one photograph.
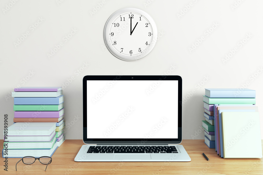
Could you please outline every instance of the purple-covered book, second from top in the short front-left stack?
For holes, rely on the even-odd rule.
[[[9,142],[50,142],[56,136],[55,130],[48,136],[7,136],[4,141]]]

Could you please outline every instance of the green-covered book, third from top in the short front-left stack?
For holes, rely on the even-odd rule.
[[[51,149],[57,139],[54,135],[51,141],[47,142],[4,142],[9,149]]]

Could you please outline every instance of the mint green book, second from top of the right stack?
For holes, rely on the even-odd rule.
[[[208,104],[256,104],[256,98],[209,98],[203,95]]]

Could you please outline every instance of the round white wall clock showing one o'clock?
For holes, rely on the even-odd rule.
[[[157,40],[157,28],[150,15],[138,8],[124,8],[113,13],[104,29],[109,51],[125,61],[148,55]]]

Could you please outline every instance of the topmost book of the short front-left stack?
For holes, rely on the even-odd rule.
[[[48,136],[56,129],[55,122],[17,122],[8,128],[8,136]]]

